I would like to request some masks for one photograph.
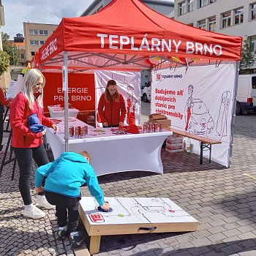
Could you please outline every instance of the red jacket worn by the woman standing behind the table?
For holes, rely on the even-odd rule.
[[[124,122],[127,110],[125,108],[124,98],[119,94],[119,99],[105,100],[105,94],[99,99],[98,112],[102,123],[108,122],[108,125],[118,125],[120,121]],[[120,115],[121,112],[121,115]]]

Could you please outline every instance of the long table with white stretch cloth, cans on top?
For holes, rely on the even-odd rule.
[[[64,152],[64,122],[58,124],[60,132],[54,134],[53,129],[46,132],[47,142],[53,151],[54,159]],[[74,118],[69,120],[70,126],[86,125]],[[95,131],[105,132],[95,132]],[[161,148],[170,131],[113,135],[110,128],[92,128],[86,138],[69,137],[69,151],[88,151],[91,165],[97,176],[129,170],[145,170],[163,173]]]

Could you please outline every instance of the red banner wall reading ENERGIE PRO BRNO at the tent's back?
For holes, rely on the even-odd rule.
[[[64,91],[62,90],[62,73],[43,72],[45,75],[44,106],[48,112],[48,105],[64,105]],[[69,104],[78,110],[95,110],[94,74],[69,73]]]

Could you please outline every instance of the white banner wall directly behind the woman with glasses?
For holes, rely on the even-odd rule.
[[[135,124],[140,125],[140,72],[122,72],[95,70],[95,89],[96,89],[96,109],[99,98],[104,94],[108,80],[116,80],[118,92],[124,97],[127,113],[135,115]],[[124,119],[127,125],[127,115]],[[102,127],[102,123],[97,121],[97,127]]]

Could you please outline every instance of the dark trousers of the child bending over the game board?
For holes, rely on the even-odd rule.
[[[66,195],[45,191],[45,197],[48,203],[56,206],[56,217],[59,227],[65,227],[68,219],[69,232],[77,231],[79,218],[78,207],[81,195],[78,197],[67,197]]]

